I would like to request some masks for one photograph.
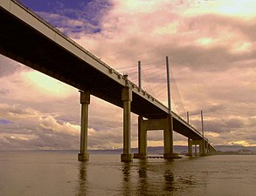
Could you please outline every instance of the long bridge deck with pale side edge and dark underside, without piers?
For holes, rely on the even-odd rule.
[[[3,56],[121,108],[125,107],[122,91],[128,88],[132,91],[132,101],[126,107],[143,118],[163,119],[170,115],[168,108],[147,91],[18,1],[0,1],[0,23]],[[202,139],[202,134],[176,113],[172,112],[171,116],[174,131],[189,139]]]

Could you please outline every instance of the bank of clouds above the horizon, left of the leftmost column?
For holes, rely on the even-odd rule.
[[[0,115],[11,124],[0,124],[3,150],[79,149],[80,125],[59,123],[54,113],[43,113],[20,105],[0,105]],[[4,121],[5,122],[5,121]]]

